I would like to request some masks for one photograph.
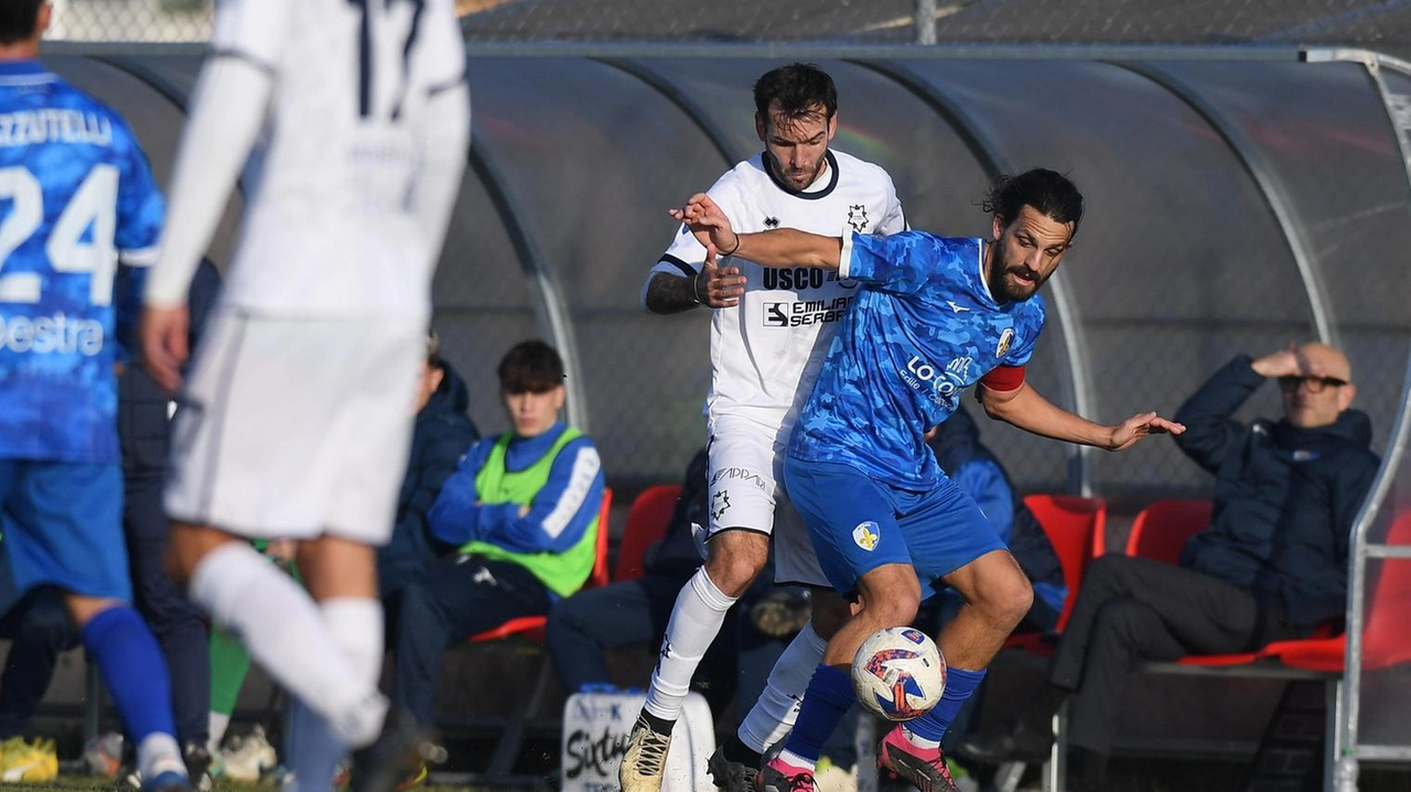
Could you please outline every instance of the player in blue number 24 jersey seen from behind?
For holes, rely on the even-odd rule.
[[[0,4],[0,506],[16,586],[63,590],[145,789],[186,789],[161,648],[123,544],[113,275],[155,258],[162,196],[131,130],[38,61],[51,7]]]

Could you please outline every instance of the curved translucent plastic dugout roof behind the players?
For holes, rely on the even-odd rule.
[[[707,316],[639,307],[676,231],[666,209],[758,151],[751,85],[779,59],[471,58],[474,141],[436,279],[437,330],[502,426],[494,365],[542,335],[570,361],[574,420],[610,481],[676,481],[704,441]],[[119,107],[166,176],[190,55],[51,58]],[[1088,214],[1046,287],[1031,365],[1053,400],[1103,421],[1173,413],[1236,352],[1343,345],[1386,443],[1411,328],[1411,187],[1379,85],[1359,62],[821,61],[834,145],[890,171],[913,227],[983,234],[998,172],[1070,173]],[[1383,70],[1393,100],[1411,80]],[[214,251],[222,264],[230,227]],[[1250,407],[1277,414],[1273,389]],[[1171,443],[1081,462],[986,428],[1026,489],[1109,499],[1206,482]]]

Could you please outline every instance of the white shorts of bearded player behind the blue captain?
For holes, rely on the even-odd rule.
[[[785,444],[766,426],[717,417],[710,435],[710,524],[707,541],[720,531],[742,530],[775,540],[775,582],[827,586],[803,517],[785,492]]]

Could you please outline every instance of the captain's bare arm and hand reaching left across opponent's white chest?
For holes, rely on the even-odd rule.
[[[838,269],[842,258],[841,237],[821,237],[796,228],[737,234],[725,213],[706,193],[691,196],[686,206],[670,211],[703,245],[714,245],[720,255],[739,255],[763,266],[814,269]]]

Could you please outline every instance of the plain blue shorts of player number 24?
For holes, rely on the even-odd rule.
[[[0,459],[0,505],[16,589],[131,602],[117,464]]]

